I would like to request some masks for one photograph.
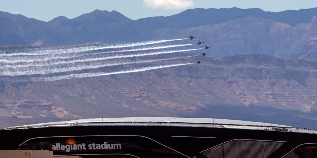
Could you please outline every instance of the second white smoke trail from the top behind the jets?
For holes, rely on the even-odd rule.
[[[0,59],[1,63],[6,63],[10,65],[14,65],[16,63],[30,63],[30,62],[46,62],[50,60],[57,59],[70,59],[70,58],[78,58],[82,56],[93,56],[93,55],[101,55],[106,53],[122,53],[122,52],[132,52],[132,51],[146,51],[146,50],[154,50],[154,49],[164,49],[164,48],[173,48],[173,47],[182,47],[182,46],[190,46],[194,44],[179,44],[179,45],[166,45],[166,46],[158,46],[158,47],[147,47],[147,48],[138,48],[138,49],[124,49],[117,51],[106,51],[106,52],[98,52],[98,53],[84,53],[79,54],[78,52],[73,52],[69,54],[51,54],[50,56],[22,56],[22,57],[3,57]],[[5,67],[5,65],[4,65]]]

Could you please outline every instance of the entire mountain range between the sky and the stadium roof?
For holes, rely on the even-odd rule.
[[[95,10],[49,22],[0,12],[0,28],[0,53],[189,35],[197,38],[175,43],[200,40],[212,46],[199,65],[49,82],[1,81],[0,127],[103,115],[239,119],[317,129],[317,8],[190,9],[138,20]]]

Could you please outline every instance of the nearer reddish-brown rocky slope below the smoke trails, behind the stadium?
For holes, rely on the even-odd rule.
[[[100,118],[103,108],[104,117],[214,117],[292,126],[298,115],[300,126],[314,128],[317,61],[257,54],[203,61],[121,75],[1,82],[0,126]]]

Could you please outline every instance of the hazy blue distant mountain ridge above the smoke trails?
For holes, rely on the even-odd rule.
[[[49,22],[0,12],[0,19],[11,19],[0,27],[19,28],[10,31],[15,36],[0,30],[0,45],[120,44],[193,34],[199,37],[197,40],[211,43],[215,52],[221,52],[215,56],[268,54],[316,59],[316,12],[317,8],[277,13],[257,8],[197,8],[168,17],[131,20],[116,11],[95,10],[73,19],[57,17]],[[16,40],[4,40],[12,38]]]

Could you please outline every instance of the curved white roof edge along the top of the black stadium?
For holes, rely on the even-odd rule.
[[[217,124],[217,125],[233,125],[233,126],[263,126],[263,127],[281,127],[281,128],[293,128],[292,126],[251,122],[242,120],[229,120],[229,119],[216,119],[216,118],[179,118],[179,117],[123,117],[123,118],[90,118],[90,119],[78,119],[71,121],[60,122],[48,122],[39,124],[22,125],[9,128],[21,128],[21,127],[39,127],[39,126],[60,126],[65,124],[113,124],[113,123],[176,123],[176,124]],[[8,128],[6,128],[8,129]]]

